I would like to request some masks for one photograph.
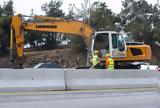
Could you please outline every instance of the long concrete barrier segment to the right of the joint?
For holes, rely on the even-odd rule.
[[[158,88],[160,73],[151,70],[65,70],[68,90]]]

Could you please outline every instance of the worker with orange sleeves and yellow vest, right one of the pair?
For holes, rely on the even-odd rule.
[[[110,54],[106,54],[106,69],[114,70],[114,60],[111,58]]]

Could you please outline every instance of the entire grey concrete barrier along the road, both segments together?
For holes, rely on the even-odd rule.
[[[153,70],[0,69],[0,92],[158,87]]]

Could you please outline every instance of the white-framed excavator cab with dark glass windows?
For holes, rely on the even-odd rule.
[[[95,32],[92,42],[92,54],[94,50],[101,53],[104,58],[106,54],[111,54],[112,58],[126,57],[126,43],[123,36],[114,31]]]

